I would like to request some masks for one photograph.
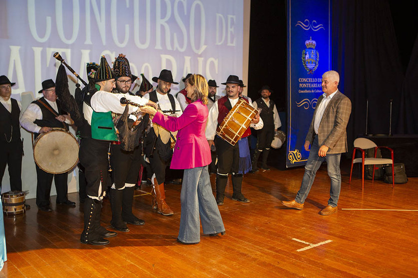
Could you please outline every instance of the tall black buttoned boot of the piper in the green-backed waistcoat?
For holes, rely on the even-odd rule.
[[[80,241],[84,244],[107,245],[109,241],[103,239],[100,229],[101,204],[98,200],[85,198],[84,202],[84,229]],[[99,224],[97,225],[97,219]]]

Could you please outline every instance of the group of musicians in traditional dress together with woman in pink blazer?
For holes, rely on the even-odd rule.
[[[169,167],[184,170],[177,239],[180,243],[200,241],[199,216],[204,234],[223,235],[225,228],[218,206],[224,203],[228,176],[233,185],[232,199],[250,202],[242,193],[243,175],[252,166],[248,138],[250,128],[263,128],[263,120],[256,113],[235,144],[216,135],[217,128],[240,100],[253,107],[248,99],[239,96],[244,87],[239,77],[230,75],[222,83],[226,86],[226,96],[221,98],[216,95],[215,80],[206,81],[201,75],[188,74],[182,80],[185,88],[175,96],[170,93],[171,84],[178,83],[171,71],[163,69],[158,77],[152,78],[157,83],[155,89],[142,75],[140,89],[133,93],[131,88],[137,77],[132,75],[125,55],[119,54],[112,68],[103,56],[100,64],[87,64],[88,84],[82,90],[77,88],[75,98],[68,101],[71,96],[68,89],[62,89],[66,75],[60,75],[61,67],[64,66],[61,64],[58,70],[56,84],[52,79],[43,81],[38,92],[42,97],[22,113],[20,104],[10,98],[14,83],[5,76],[0,77],[0,140],[6,146],[1,151],[7,152],[2,155],[0,178],[8,164],[11,190],[21,191],[20,126],[31,132],[36,142],[42,134],[56,129],[68,131],[68,126],[74,125],[83,173],[80,192],[85,192],[82,198],[80,195],[84,205],[81,243],[107,245],[108,238],[117,235],[100,225],[106,194],[112,211],[111,230],[129,232],[129,225],[145,224],[132,213],[134,189],[142,166],[148,169],[151,179],[152,208],[164,216],[174,213],[165,200],[166,170]],[[214,171],[216,198],[209,180],[209,173]],[[36,164],[36,174],[39,210],[51,211],[52,178],[56,203],[75,207],[67,198],[67,172],[51,173]],[[81,188],[82,184],[85,188]]]

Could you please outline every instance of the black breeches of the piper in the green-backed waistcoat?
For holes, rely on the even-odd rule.
[[[91,138],[82,138],[80,142],[78,158],[85,168],[86,194],[93,199],[101,199],[107,188],[109,144],[109,141]]]

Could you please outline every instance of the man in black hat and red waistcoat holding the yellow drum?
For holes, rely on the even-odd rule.
[[[206,139],[210,147],[216,145],[216,154],[218,156],[218,171],[216,173],[216,203],[218,205],[224,204],[225,187],[230,172],[232,172],[232,199],[243,203],[250,201],[241,192],[243,174],[251,170],[251,156],[247,139],[251,134],[250,128],[245,131],[242,138],[235,145],[231,145],[218,136],[215,138],[217,126],[222,123],[228,112],[240,99],[238,90],[240,84],[241,81],[236,75],[230,75],[227,81],[222,83],[222,85],[226,85],[227,95],[217,100],[210,109],[206,127]],[[247,99],[244,100],[248,103]],[[256,115],[251,121],[250,127],[256,130],[263,128],[263,121],[259,115]]]

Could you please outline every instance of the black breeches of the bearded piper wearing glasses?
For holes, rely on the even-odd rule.
[[[120,145],[110,144],[111,177],[115,189],[122,188],[125,183],[137,183],[142,160],[141,146],[133,151],[124,151]]]

